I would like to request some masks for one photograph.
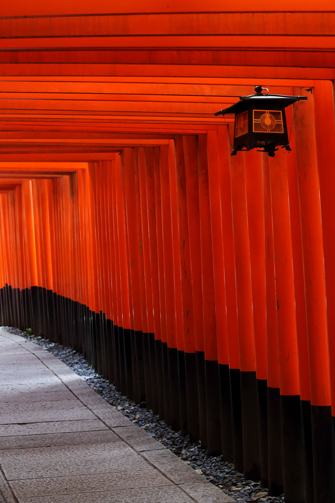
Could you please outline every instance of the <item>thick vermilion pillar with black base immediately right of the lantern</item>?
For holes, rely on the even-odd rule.
[[[328,107],[332,106],[333,100],[331,92],[329,93],[329,87],[328,92],[325,91],[323,93],[323,90],[324,86],[321,86],[320,90],[318,89],[318,93],[320,93],[318,103],[321,100],[325,100],[328,103]],[[324,126],[321,121],[318,121],[318,138],[321,144],[317,147],[315,142],[316,125],[314,121],[314,108],[316,108],[316,104],[314,105],[313,98],[309,97],[309,100],[304,105],[304,107],[295,107],[294,128],[297,150],[307,319],[314,500],[318,502],[321,500],[330,501],[335,491],[333,481],[333,450],[329,445],[329,438],[332,438],[330,375],[329,365],[324,364],[324,362],[329,361],[329,352],[318,174],[318,164],[320,163],[320,170],[322,172],[322,166],[325,162],[325,158],[322,157],[323,154],[321,153],[321,131]],[[318,115],[318,117],[320,116]],[[333,122],[330,122],[329,126],[331,136]],[[317,155],[317,151],[319,152],[319,156]],[[324,173],[322,173],[322,177],[322,187],[324,187]],[[324,214],[324,217],[325,221],[327,221],[326,214]],[[329,239],[327,238],[327,232],[325,232],[325,236],[326,239]],[[329,295],[331,296],[331,290]],[[320,445],[323,446],[321,449]],[[323,490],[325,486],[327,486],[327,489]]]

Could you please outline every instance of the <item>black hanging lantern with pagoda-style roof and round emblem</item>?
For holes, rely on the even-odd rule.
[[[267,93],[262,93],[265,90]],[[262,86],[255,87],[256,94],[241,96],[231,107],[219,110],[214,115],[235,114],[234,145],[232,155],[238,150],[263,148],[274,157],[276,148],[291,150],[287,135],[285,108],[306,96],[270,95]]]

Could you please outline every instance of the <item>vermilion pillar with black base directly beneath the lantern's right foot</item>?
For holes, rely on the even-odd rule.
[[[282,157],[284,155],[282,154]],[[292,244],[285,158],[269,160],[275,292],[278,327],[279,386],[283,445],[283,481],[288,501],[304,501],[304,470],[298,347],[294,305]]]

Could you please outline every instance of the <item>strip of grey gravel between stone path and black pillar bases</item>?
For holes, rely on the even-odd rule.
[[[197,443],[190,442],[188,436],[183,437],[180,432],[172,430],[164,421],[160,420],[158,415],[141,408],[126,396],[122,396],[115,389],[113,383],[95,373],[87,361],[79,353],[73,351],[72,348],[52,343],[48,339],[35,337],[18,328],[8,326],[1,328],[5,328],[9,333],[25,337],[55,355],[136,426],[141,430],[145,430],[151,437],[161,442],[179,458],[183,459],[185,463],[202,473],[209,482],[220,487],[236,501],[243,501],[244,503],[283,503],[283,494],[276,497],[269,496],[268,490],[262,488],[260,482],[246,480],[243,473],[235,471],[233,463],[224,461],[221,456],[208,456],[206,450],[201,447],[200,441]]]

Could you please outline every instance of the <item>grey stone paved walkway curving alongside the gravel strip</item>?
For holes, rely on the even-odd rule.
[[[56,357],[0,329],[0,503],[234,501]]]

